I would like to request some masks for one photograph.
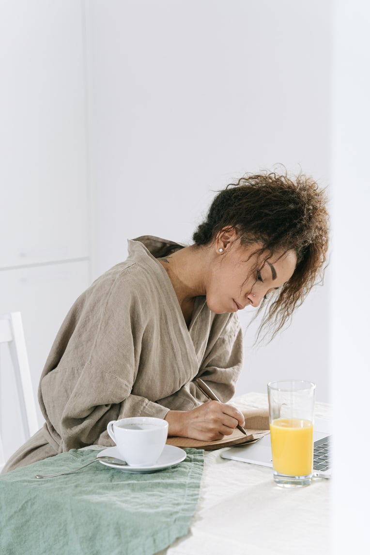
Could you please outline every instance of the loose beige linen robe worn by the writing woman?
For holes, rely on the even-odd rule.
[[[221,401],[232,397],[242,367],[239,319],[211,312],[197,297],[187,329],[156,260],[179,248],[151,236],[129,241],[128,259],[75,301],[40,379],[45,424],[3,472],[72,448],[113,445],[110,420],[191,410],[205,401],[193,382],[198,376]]]

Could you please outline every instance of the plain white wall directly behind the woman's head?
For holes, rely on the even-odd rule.
[[[91,0],[86,11],[94,276],[125,258],[128,238],[190,242],[212,190],[246,171],[282,163],[328,185],[328,1]],[[297,377],[327,401],[327,325],[325,284],[267,347],[247,331],[237,393]]]

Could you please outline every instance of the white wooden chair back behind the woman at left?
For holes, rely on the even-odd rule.
[[[0,315],[0,347],[4,343],[9,347],[21,409],[23,431],[27,440],[38,431],[39,425],[37,423],[36,403],[33,396],[21,312],[9,312],[9,314]],[[0,470],[5,462],[0,430]]]

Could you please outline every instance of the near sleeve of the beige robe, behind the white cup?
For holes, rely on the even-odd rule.
[[[146,397],[131,394],[149,316],[128,279],[124,290],[110,284],[108,294],[103,287],[72,307],[50,351],[39,402],[48,440],[59,452],[113,445],[110,420],[164,418],[169,410],[156,402],[150,384]]]

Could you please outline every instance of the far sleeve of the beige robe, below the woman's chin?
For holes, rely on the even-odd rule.
[[[239,318],[231,314],[226,324],[215,322],[199,371],[192,381],[159,402],[170,410],[191,410],[208,398],[195,385],[201,377],[220,401],[227,402],[235,393],[235,384],[243,366],[243,336]]]

